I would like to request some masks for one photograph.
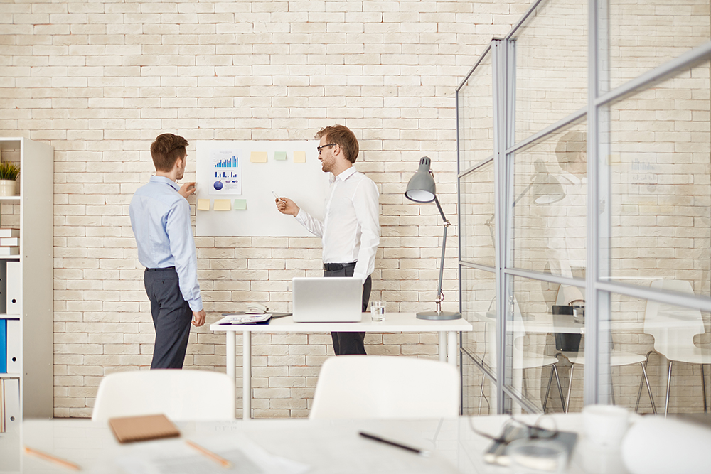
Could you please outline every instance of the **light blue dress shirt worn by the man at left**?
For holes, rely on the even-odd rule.
[[[191,310],[203,309],[198,285],[198,259],[190,225],[190,205],[175,181],[151,176],[134,194],[129,206],[138,260],[150,269],[175,266],[183,299]]]

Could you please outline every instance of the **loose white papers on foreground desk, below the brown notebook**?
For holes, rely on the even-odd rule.
[[[196,443],[232,463],[230,468],[215,463],[190,448],[185,441],[154,441],[134,446],[117,459],[130,474],[303,474],[310,466],[274,456],[245,436],[196,439]]]

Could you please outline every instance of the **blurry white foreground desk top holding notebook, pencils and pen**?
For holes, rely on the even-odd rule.
[[[559,429],[577,431],[582,429],[579,414],[552,415]],[[507,416],[479,416],[472,420],[476,429],[498,434]],[[521,419],[535,420],[535,416]],[[506,468],[483,463],[482,454],[491,443],[476,435],[469,428],[469,419],[442,419],[422,421],[376,421],[376,420],[253,420],[223,422],[177,423],[181,438],[147,441],[119,445],[105,423],[88,419],[55,419],[25,421],[22,444],[53,456],[80,465],[83,471],[119,473],[116,461],[132,456],[137,451],[144,453],[181,450],[181,456],[191,456],[196,463],[203,463],[200,472],[230,472],[185,445],[190,439],[205,448],[215,448],[220,441],[230,446],[245,446],[254,443],[272,455],[309,465],[308,474],[447,474],[447,473],[511,473]],[[369,441],[358,436],[358,431],[392,438],[402,443],[432,451],[432,456],[419,456],[400,448]],[[242,443],[240,445],[240,443]],[[218,451],[219,453],[220,451]],[[569,474],[577,473],[624,473],[624,468],[607,463],[604,469],[591,470],[590,455],[593,452],[583,440],[579,440],[570,465]],[[599,463],[599,453],[594,453]],[[18,457],[19,457],[18,453]],[[608,456],[609,455],[602,455]],[[581,465],[586,465],[582,470]],[[0,470],[2,460],[0,460]],[[68,473],[69,470],[33,456],[21,456],[23,473]]]

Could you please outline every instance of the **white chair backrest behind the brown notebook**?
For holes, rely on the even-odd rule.
[[[93,421],[165,414],[173,421],[235,419],[235,381],[206,370],[134,370],[99,384]]]

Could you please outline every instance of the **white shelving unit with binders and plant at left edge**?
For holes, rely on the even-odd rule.
[[[18,443],[19,438],[11,435],[19,433],[22,418],[53,415],[54,149],[26,138],[0,137],[0,160],[20,166],[19,195],[0,196],[0,228],[20,230],[20,254],[0,257],[0,276],[6,280],[0,284],[0,291],[7,296],[8,284],[14,286],[18,300],[14,309],[9,309],[10,298],[0,308],[1,319],[19,322],[15,323],[19,335],[13,335],[19,341],[12,341],[19,348],[19,360],[14,370],[0,373],[6,387],[6,408],[13,406],[11,397],[15,397],[15,405],[19,402],[17,416],[7,413],[6,436],[0,435],[0,458],[12,464],[6,455],[17,451],[19,463],[19,446],[14,446],[14,440]],[[18,275],[8,274],[10,262],[18,262]],[[14,281],[7,281],[6,277]],[[12,393],[17,389],[19,394]],[[7,468],[9,471],[4,470]],[[14,470],[19,470],[19,464],[0,468],[1,472]]]

